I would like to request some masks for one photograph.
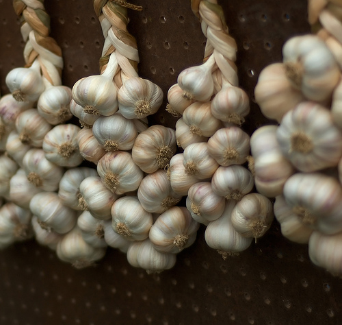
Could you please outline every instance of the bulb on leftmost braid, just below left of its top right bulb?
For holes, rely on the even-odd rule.
[[[34,108],[25,110],[16,119],[16,131],[25,145],[42,147],[44,136],[50,130],[51,125]]]

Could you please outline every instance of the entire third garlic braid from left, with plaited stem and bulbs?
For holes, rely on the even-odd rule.
[[[192,218],[207,226],[207,244],[226,257],[246,250],[269,229],[272,203],[243,166],[250,137],[241,129],[250,106],[237,86],[237,47],[217,1],[194,1],[207,37],[204,63],[183,70],[168,91],[168,112],[180,117],[176,141],[184,151],[170,160],[172,190],[187,195]]]

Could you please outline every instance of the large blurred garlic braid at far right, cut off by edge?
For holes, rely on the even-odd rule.
[[[317,35],[295,36],[282,63],[263,69],[255,88],[261,112],[278,125],[251,136],[255,185],[276,197],[282,234],[308,243],[311,261],[342,268],[342,21],[337,1],[308,2]]]

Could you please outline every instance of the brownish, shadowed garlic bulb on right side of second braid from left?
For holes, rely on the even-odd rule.
[[[163,169],[176,153],[174,130],[163,125],[152,125],[141,132],[132,148],[134,163],[145,173]]]

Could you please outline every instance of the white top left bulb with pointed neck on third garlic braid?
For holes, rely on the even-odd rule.
[[[211,72],[214,66],[215,58],[211,55],[202,65],[189,67],[179,73],[177,83],[183,89],[185,98],[196,101],[209,101],[211,99],[213,95]]]

